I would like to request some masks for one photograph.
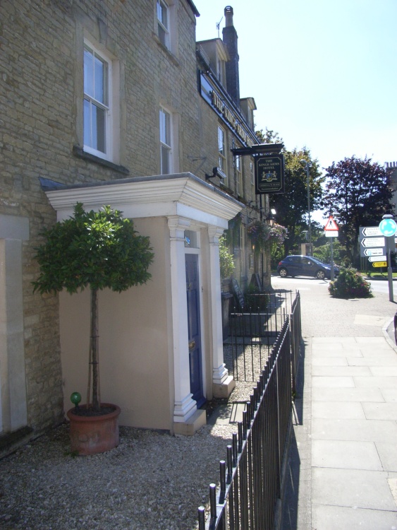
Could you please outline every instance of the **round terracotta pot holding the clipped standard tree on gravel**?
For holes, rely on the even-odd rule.
[[[118,416],[121,409],[110,403],[102,403],[102,406],[114,408],[114,411],[102,416],[78,416],[74,413],[75,408],[67,412],[71,421],[72,451],[84,455],[97,454],[118,446]]]

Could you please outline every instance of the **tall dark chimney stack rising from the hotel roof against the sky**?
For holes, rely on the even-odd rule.
[[[222,30],[224,44],[228,49],[230,61],[226,62],[226,87],[238,108],[240,108],[240,77],[238,74],[237,32],[233,25],[233,8],[226,6],[225,27]]]

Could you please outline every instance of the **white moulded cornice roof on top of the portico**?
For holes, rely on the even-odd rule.
[[[45,192],[58,220],[73,215],[73,206],[86,209],[109,204],[129,218],[184,216],[227,228],[243,204],[192,173],[134,177],[109,182],[60,186],[46,185]]]

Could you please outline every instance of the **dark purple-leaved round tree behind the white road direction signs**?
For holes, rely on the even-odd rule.
[[[391,181],[388,172],[371,158],[345,158],[326,168],[322,207],[336,215],[339,240],[351,264],[359,266],[360,226],[378,225],[391,213]]]

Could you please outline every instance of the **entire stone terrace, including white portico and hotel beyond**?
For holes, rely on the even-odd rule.
[[[40,232],[77,201],[120,209],[154,249],[152,281],[99,301],[102,399],[121,406],[121,424],[189,434],[200,404],[233,388],[219,236],[259,205],[252,160],[230,151],[255,143],[255,101],[240,100],[226,9],[224,40],[196,45],[191,0],[1,1],[2,452],[59,424],[86,387],[88,293],[32,292]],[[237,254],[247,281],[243,229]],[[187,273],[197,273],[196,341]]]

